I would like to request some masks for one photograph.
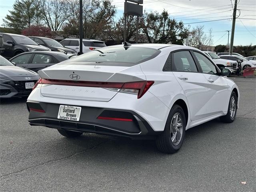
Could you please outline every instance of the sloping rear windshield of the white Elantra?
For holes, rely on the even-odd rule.
[[[85,62],[82,65],[111,65],[111,66],[133,66],[156,57],[160,50],[142,47],[106,47],[99,48],[72,59],[74,63]],[[77,62],[77,63],[76,63]],[[122,63],[126,63],[125,65]],[[62,64],[69,64],[64,62]]]

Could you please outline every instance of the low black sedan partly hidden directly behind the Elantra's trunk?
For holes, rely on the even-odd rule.
[[[71,58],[72,54],[64,54],[57,51],[33,51],[19,54],[10,59],[16,66],[38,72],[38,70],[52,66]]]

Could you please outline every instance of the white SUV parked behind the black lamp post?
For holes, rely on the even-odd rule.
[[[75,50],[76,52],[79,52],[79,38],[66,38],[64,40],[62,40],[60,42],[60,44],[62,44],[63,46],[65,46],[66,48],[70,48]],[[83,53],[89,52],[91,50],[94,50],[96,48],[100,48],[100,47],[106,47],[106,44],[104,41],[98,41],[98,40],[93,40],[93,39],[83,39]]]

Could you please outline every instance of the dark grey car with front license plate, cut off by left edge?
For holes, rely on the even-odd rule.
[[[0,56],[0,98],[28,96],[39,76]]]

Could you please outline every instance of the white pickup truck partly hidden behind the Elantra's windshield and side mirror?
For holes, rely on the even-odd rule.
[[[219,67],[219,68],[228,68],[232,72],[236,72],[237,68],[237,63],[236,61],[232,60],[227,60],[227,59],[222,59],[220,58],[216,53],[210,52],[210,51],[203,51],[208,57],[212,58],[214,63]]]

